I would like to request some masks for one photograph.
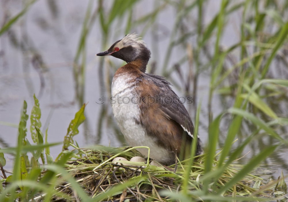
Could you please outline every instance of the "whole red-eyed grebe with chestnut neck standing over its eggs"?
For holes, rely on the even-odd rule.
[[[127,62],[112,81],[112,110],[130,146],[149,146],[150,157],[165,164],[175,162],[181,150],[190,154],[194,126],[179,97],[164,77],[145,73],[150,50],[135,34],[116,41],[99,56],[112,55]],[[136,102],[120,103],[121,98]],[[139,151],[147,156],[146,149]],[[187,152],[188,151],[188,152]],[[196,155],[202,152],[198,138]]]

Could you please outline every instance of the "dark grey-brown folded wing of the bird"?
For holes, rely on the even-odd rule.
[[[164,77],[147,74],[147,80],[151,80],[160,88],[161,109],[172,120],[176,121],[184,131],[193,138],[194,126],[192,120],[176,93],[170,88],[170,83]]]

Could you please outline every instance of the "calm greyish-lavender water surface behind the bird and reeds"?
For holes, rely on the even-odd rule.
[[[110,3],[110,1],[105,1],[105,7],[109,8]],[[0,124],[1,148],[15,146],[18,129],[8,126],[7,123],[18,124],[23,100],[27,101],[28,113],[30,114],[34,104],[34,93],[40,102],[42,131],[45,131],[48,127],[48,142],[52,143],[63,140],[67,133],[69,122],[74,118],[74,114],[83,104],[76,98],[73,59],[76,54],[87,5],[88,1],[84,3],[76,0],[39,0],[29,8],[25,16],[12,26],[9,32],[1,36],[0,121],[5,122],[4,124]],[[152,0],[140,1],[133,8],[133,17],[138,19],[144,16],[151,12],[156,5],[158,3]],[[205,5],[204,24],[209,23],[213,19],[219,11],[219,5],[219,1],[209,1]],[[92,6],[96,8],[95,3]],[[1,1],[1,24],[3,24],[6,15],[15,16],[21,9],[21,2]],[[238,25],[241,21],[241,14],[242,10],[238,10],[230,15],[223,33],[223,39],[225,40],[221,41],[223,47],[229,47],[239,41],[240,27]],[[154,25],[157,27],[157,30],[148,29],[143,38],[152,51],[148,69],[151,69],[151,64],[156,62],[155,74],[162,75],[163,73],[164,56],[168,49],[169,35],[173,32],[172,22],[174,22],[176,15],[177,12],[175,9],[167,5],[159,14]],[[190,18],[192,21],[195,18],[194,21],[196,24],[197,10],[193,10]],[[104,105],[95,103],[99,98],[103,98],[102,96],[105,96],[103,99],[109,97],[113,73],[118,67],[124,64],[117,58],[109,57],[105,58],[104,66],[99,65],[101,58],[95,56],[95,54],[106,50],[114,41],[121,39],[125,35],[126,20],[127,16],[124,16],[122,20],[115,20],[113,22],[109,32],[110,37],[105,47],[102,47],[103,35],[98,18],[96,18],[86,38],[87,55],[84,97],[82,99],[88,105],[85,109],[86,121],[80,127],[79,135],[74,137],[79,146],[101,144],[118,147],[126,145],[111,114],[111,106],[107,103]],[[144,28],[144,25],[132,27],[131,33],[141,33]],[[191,43],[193,44],[195,41],[195,37],[192,37]],[[211,41],[211,47],[213,47],[213,41]],[[185,54],[185,50],[186,47],[183,46],[177,46],[173,50],[169,67],[179,61],[179,58]],[[31,62],[33,60],[37,61],[34,65]],[[113,65],[109,65],[111,63],[108,63],[108,60]],[[41,61],[43,61],[42,64]],[[183,74],[189,73],[189,65],[187,63],[181,65],[181,71],[183,71]],[[101,72],[103,72],[103,75],[99,74]],[[184,95],[183,83],[181,83],[179,75],[173,72],[170,78],[173,78],[176,82],[174,83],[173,90],[179,96]],[[203,109],[201,112],[199,134],[205,143],[208,126],[208,115],[205,109],[209,89],[208,72],[204,71],[201,73],[198,85],[198,97],[195,101],[198,103],[202,102]],[[180,86],[180,88],[177,88],[177,86]],[[233,102],[229,101],[229,99],[228,101],[226,99],[226,102],[223,103],[221,98],[215,96],[213,99],[213,114],[217,115],[223,109],[228,109],[232,105]],[[186,104],[186,107],[193,120],[194,105]],[[29,124],[30,120],[27,125],[28,129]],[[224,126],[223,131],[225,130]],[[225,137],[221,138],[224,141]],[[31,140],[30,137],[28,139]],[[253,151],[258,151],[258,148],[269,145],[269,140],[271,139],[264,137],[262,145],[259,141],[255,145],[251,145],[250,148],[247,148],[247,152],[250,150],[252,152],[247,156],[251,157],[254,155]],[[61,149],[62,146],[54,147],[51,150],[52,156],[55,158]],[[285,172],[288,171],[287,152],[287,148],[279,148],[274,154],[274,157],[277,156],[277,158],[268,159],[268,163],[272,164],[270,168],[274,169],[277,174],[282,169]],[[11,163],[10,159],[7,167]]]

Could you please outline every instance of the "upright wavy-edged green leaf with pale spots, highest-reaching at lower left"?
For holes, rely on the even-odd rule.
[[[39,107],[39,101],[36,98],[35,94],[33,95],[33,97],[34,97],[34,106],[32,107],[31,115],[30,115],[30,122],[31,122],[30,132],[31,132],[31,138],[32,138],[33,142],[35,144],[37,144],[38,143],[38,137],[37,137],[38,135],[37,135],[37,131],[36,131],[35,127],[37,127],[38,129],[41,128],[41,121],[40,121],[41,110]]]

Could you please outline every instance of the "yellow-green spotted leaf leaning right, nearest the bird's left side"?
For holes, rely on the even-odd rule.
[[[81,109],[75,114],[73,120],[71,120],[69,127],[67,129],[67,135],[64,137],[64,144],[62,151],[67,150],[70,143],[73,144],[73,136],[79,133],[78,127],[85,120],[84,110],[86,104],[84,103]]]

